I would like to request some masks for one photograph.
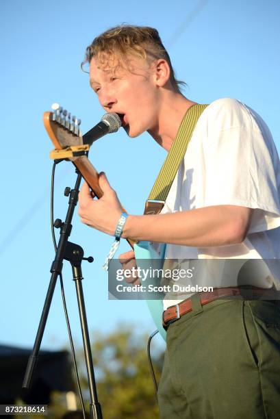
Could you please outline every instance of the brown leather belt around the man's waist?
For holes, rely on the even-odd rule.
[[[201,305],[211,303],[222,297],[242,296],[243,299],[253,299],[253,297],[262,300],[271,300],[272,303],[279,303],[280,292],[271,288],[257,288],[244,285],[243,287],[214,288],[213,291],[199,292]],[[192,297],[181,301],[181,303],[168,307],[162,314],[162,326],[168,328],[168,323],[178,320],[184,314],[192,311]]]

